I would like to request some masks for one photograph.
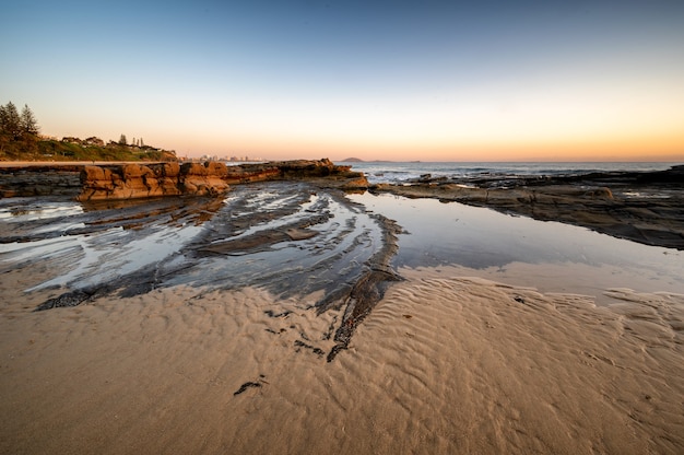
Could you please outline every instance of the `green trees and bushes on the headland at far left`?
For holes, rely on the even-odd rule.
[[[143,145],[142,139],[128,144],[126,135],[105,144],[95,137],[57,140],[38,131],[28,106],[20,114],[12,102],[0,105],[0,161],[177,161],[176,152]]]

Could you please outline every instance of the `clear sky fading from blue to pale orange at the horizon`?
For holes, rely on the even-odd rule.
[[[9,101],[179,156],[684,161],[684,1],[4,2]]]

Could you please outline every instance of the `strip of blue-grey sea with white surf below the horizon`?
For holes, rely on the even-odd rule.
[[[337,162],[363,172],[370,184],[406,183],[431,174],[451,179],[581,175],[594,172],[665,171],[676,162]]]

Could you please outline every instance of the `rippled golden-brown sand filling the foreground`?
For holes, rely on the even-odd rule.
[[[616,290],[624,304],[597,308],[402,272],[331,363],[334,315],[311,312],[315,295],[176,287],[5,306],[1,452],[684,450],[683,296]]]

